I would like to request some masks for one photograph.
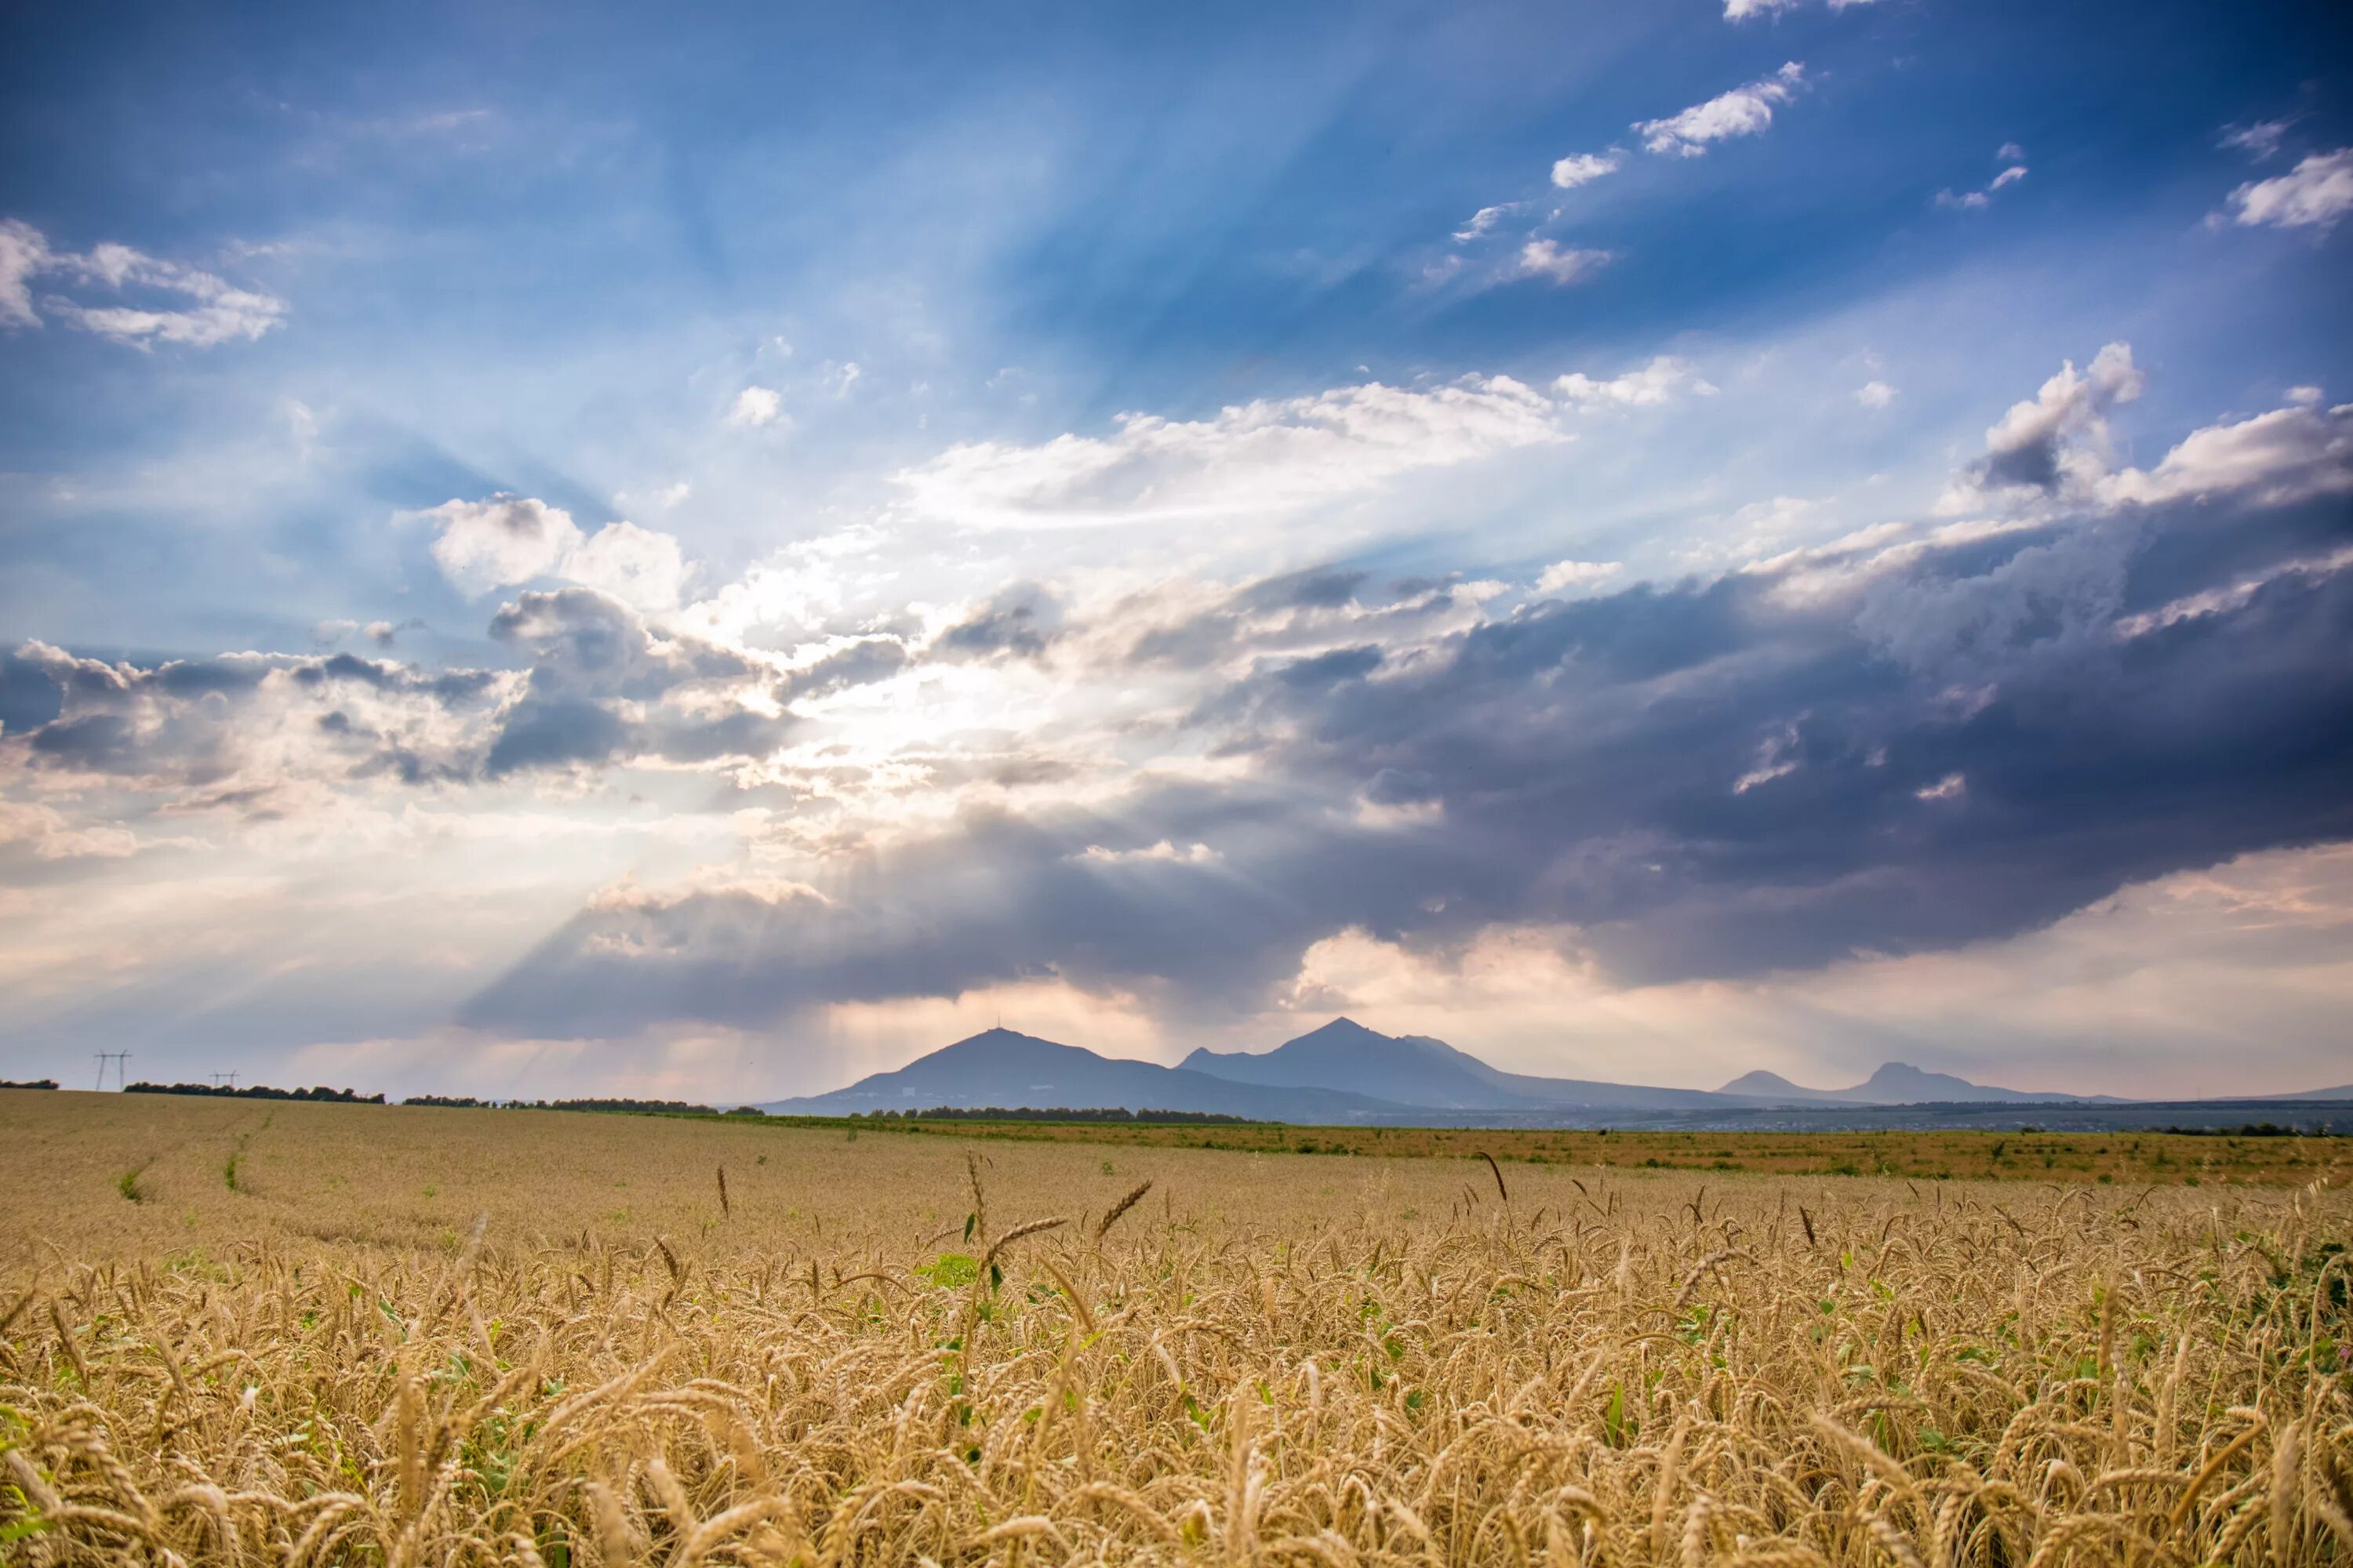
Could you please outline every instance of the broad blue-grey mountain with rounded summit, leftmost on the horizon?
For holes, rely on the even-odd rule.
[[[772,1100],[760,1110],[784,1117],[845,1117],[875,1110],[1073,1107],[1207,1110],[1259,1121],[1367,1121],[1398,1117],[1409,1105],[1313,1086],[1259,1086],[1233,1079],[1096,1056],[1035,1034],[986,1030],[922,1056],[896,1072],[875,1072],[849,1088]]]

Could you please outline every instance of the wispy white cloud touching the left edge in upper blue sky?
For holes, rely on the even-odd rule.
[[[111,294],[136,289],[146,294],[148,303],[92,306],[66,294],[45,294],[35,310],[35,277],[54,277]],[[188,303],[165,308],[155,296]],[[0,327],[40,327],[40,310],[68,327],[129,348],[153,348],[155,343],[214,348],[238,339],[259,339],[282,324],[287,303],[127,244],[96,244],[80,254],[54,252],[31,223],[0,221]]]

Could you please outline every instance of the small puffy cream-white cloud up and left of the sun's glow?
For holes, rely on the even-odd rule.
[[[433,562],[466,595],[555,576],[661,611],[678,607],[689,576],[671,534],[607,522],[584,538],[572,512],[532,496],[445,501],[407,517],[440,529]]]

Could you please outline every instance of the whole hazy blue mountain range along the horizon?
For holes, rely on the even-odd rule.
[[[2353,1086],[2275,1095],[2353,1098]],[[932,1051],[896,1072],[878,1072],[833,1093],[774,1100],[779,1114],[880,1110],[1120,1107],[1252,1117],[1259,1121],[1346,1124],[1497,1119],[1579,1124],[1649,1117],[1753,1117],[1774,1110],[1868,1112],[1953,1105],[2132,1105],[2115,1095],[2061,1095],[1972,1084],[1948,1072],[1885,1063],[1852,1088],[1805,1088],[1772,1072],[1748,1072],[1718,1091],[1546,1079],[1489,1067],[1428,1034],[1381,1034],[1351,1018],[1266,1053],[1193,1051],[1176,1067],[1096,1056],[1014,1030],[986,1030]]]

